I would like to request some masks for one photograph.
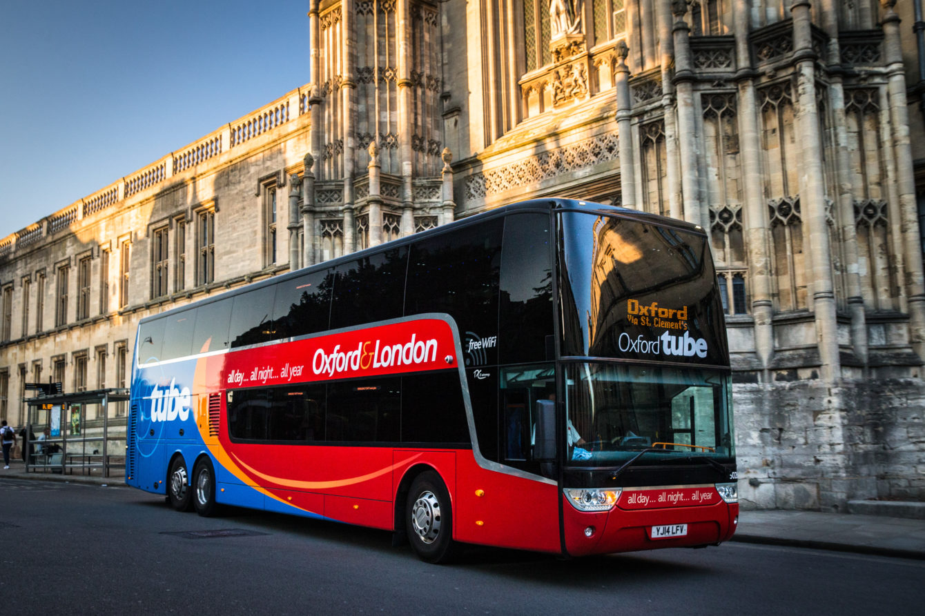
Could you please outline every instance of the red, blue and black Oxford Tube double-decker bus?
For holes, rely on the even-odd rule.
[[[738,520],[729,352],[701,228],[516,203],[142,319],[126,482],[567,556]]]

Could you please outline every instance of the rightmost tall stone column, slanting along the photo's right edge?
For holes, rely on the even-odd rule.
[[[922,280],[922,253],[919,243],[919,213],[916,184],[909,144],[909,112],[906,99],[906,74],[899,37],[899,16],[893,8],[896,0],[881,0],[883,9],[883,46],[886,51],[887,88],[890,95],[890,123],[893,132],[896,187],[899,192],[902,240],[906,271],[903,282],[908,297],[909,341],[925,357],[925,283]]]

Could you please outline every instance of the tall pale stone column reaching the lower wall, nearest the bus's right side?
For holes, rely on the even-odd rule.
[[[748,51],[748,0],[734,0],[735,80],[739,99],[737,119],[739,145],[742,148],[743,207],[746,251],[748,253],[748,294],[755,324],[755,352],[763,380],[774,355],[774,304],[771,302],[771,240],[768,228],[768,205],[764,198],[764,175],[759,150],[759,109],[755,93],[758,73],[750,66]]]

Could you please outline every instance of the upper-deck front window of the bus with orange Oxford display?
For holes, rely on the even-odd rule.
[[[563,354],[728,365],[706,236],[565,213]]]

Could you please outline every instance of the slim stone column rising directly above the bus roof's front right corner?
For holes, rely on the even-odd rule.
[[[672,0],[674,16],[674,87],[678,107],[678,148],[681,158],[681,191],[685,220],[709,229],[709,212],[700,203],[697,182],[697,124],[694,119],[694,71],[691,68],[686,0]]]

